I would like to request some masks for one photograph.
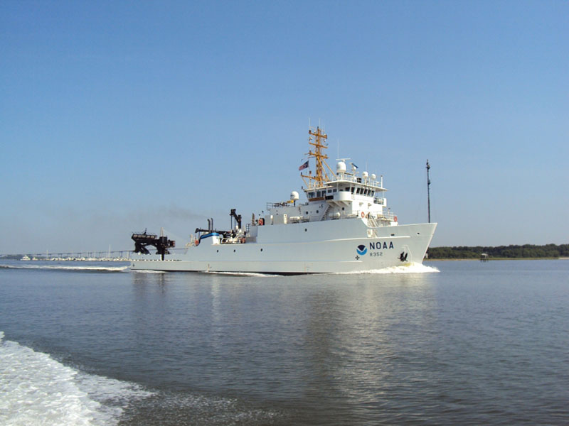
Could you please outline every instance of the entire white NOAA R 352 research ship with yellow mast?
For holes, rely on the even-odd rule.
[[[436,223],[399,224],[387,209],[383,176],[359,173],[349,158],[326,163],[328,136],[309,129],[308,160],[299,167],[307,202],[291,192],[243,224],[231,209],[231,229],[196,229],[183,253],[166,236],[132,234],[133,270],[228,273],[358,273],[421,263]],[[314,159],[314,173],[309,160]],[[309,170],[307,170],[309,169]],[[308,173],[307,173],[308,171]],[[156,248],[151,254],[148,246]],[[154,251],[154,250],[152,250]]]

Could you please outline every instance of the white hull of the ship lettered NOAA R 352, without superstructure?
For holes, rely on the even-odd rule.
[[[348,273],[421,263],[437,224],[368,226],[365,218],[267,224],[244,243],[203,239],[184,253],[138,255],[133,270]]]

